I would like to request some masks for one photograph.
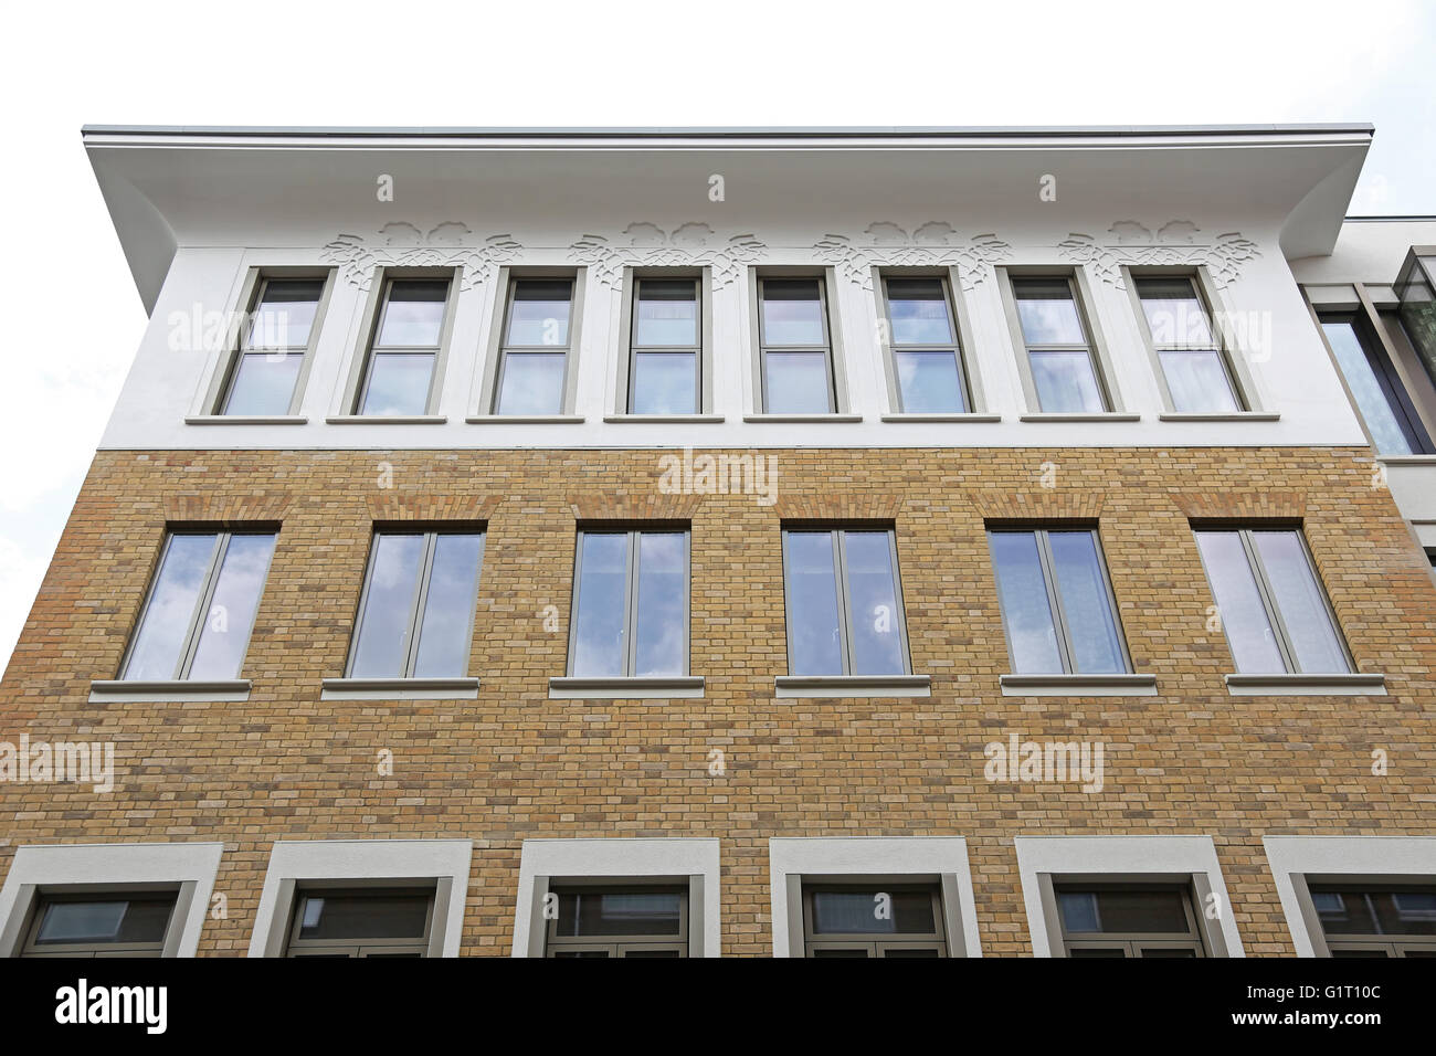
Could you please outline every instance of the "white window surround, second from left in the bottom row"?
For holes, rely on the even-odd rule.
[[[297,884],[365,886],[432,881],[429,957],[458,957],[472,855],[474,842],[468,839],[274,840],[248,955],[283,955]]]

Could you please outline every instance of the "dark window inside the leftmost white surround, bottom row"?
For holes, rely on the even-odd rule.
[[[39,895],[22,957],[161,957],[175,892]]]

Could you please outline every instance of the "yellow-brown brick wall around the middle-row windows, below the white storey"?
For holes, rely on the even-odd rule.
[[[507,954],[526,838],[717,836],[734,955],[771,951],[770,836],[962,835],[984,950],[1014,955],[1030,953],[1015,835],[1208,833],[1248,954],[1291,954],[1264,833],[1433,830],[1436,588],[1367,450],[771,454],[775,506],[661,494],[655,451],[101,453],[0,684],[0,740],[113,740],[118,787],[0,784],[0,874],[22,843],[223,840],[228,918],[207,921],[200,953],[233,955],[276,838],[462,836],[462,953]],[[549,700],[576,516],[691,517],[702,700]],[[840,516],[896,522],[931,698],[774,698],[780,520]],[[1012,516],[1100,519],[1132,659],[1159,695],[1001,695],[984,519]],[[1301,517],[1357,667],[1386,672],[1390,695],[1229,697],[1192,516]],[[478,700],[320,701],[320,678],[343,674],[373,522],[474,517],[488,522]],[[248,703],[88,703],[90,680],[118,671],[165,523],[244,520],[283,523]],[[982,749],[1011,731],[1104,741],[1104,790],[989,784]]]

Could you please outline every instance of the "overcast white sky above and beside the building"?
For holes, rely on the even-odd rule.
[[[0,662],[145,325],[83,124],[1370,121],[1351,213],[1436,213],[1436,6],[1425,0],[250,0],[243,16],[136,0],[17,4],[6,37]]]

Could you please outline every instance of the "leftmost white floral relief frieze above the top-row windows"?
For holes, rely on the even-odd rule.
[[[396,221],[378,231],[370,241],[358,234],[340,234],[325,246],[326,263],[337,264],[339,274],[360,290],[368,290],[376,267],[460,267],[460,289],[487,283],[494,269],[513,260],[523,249],[511,236],[495,234],[474,244],[467,224],[449,220],[429,231]]]

